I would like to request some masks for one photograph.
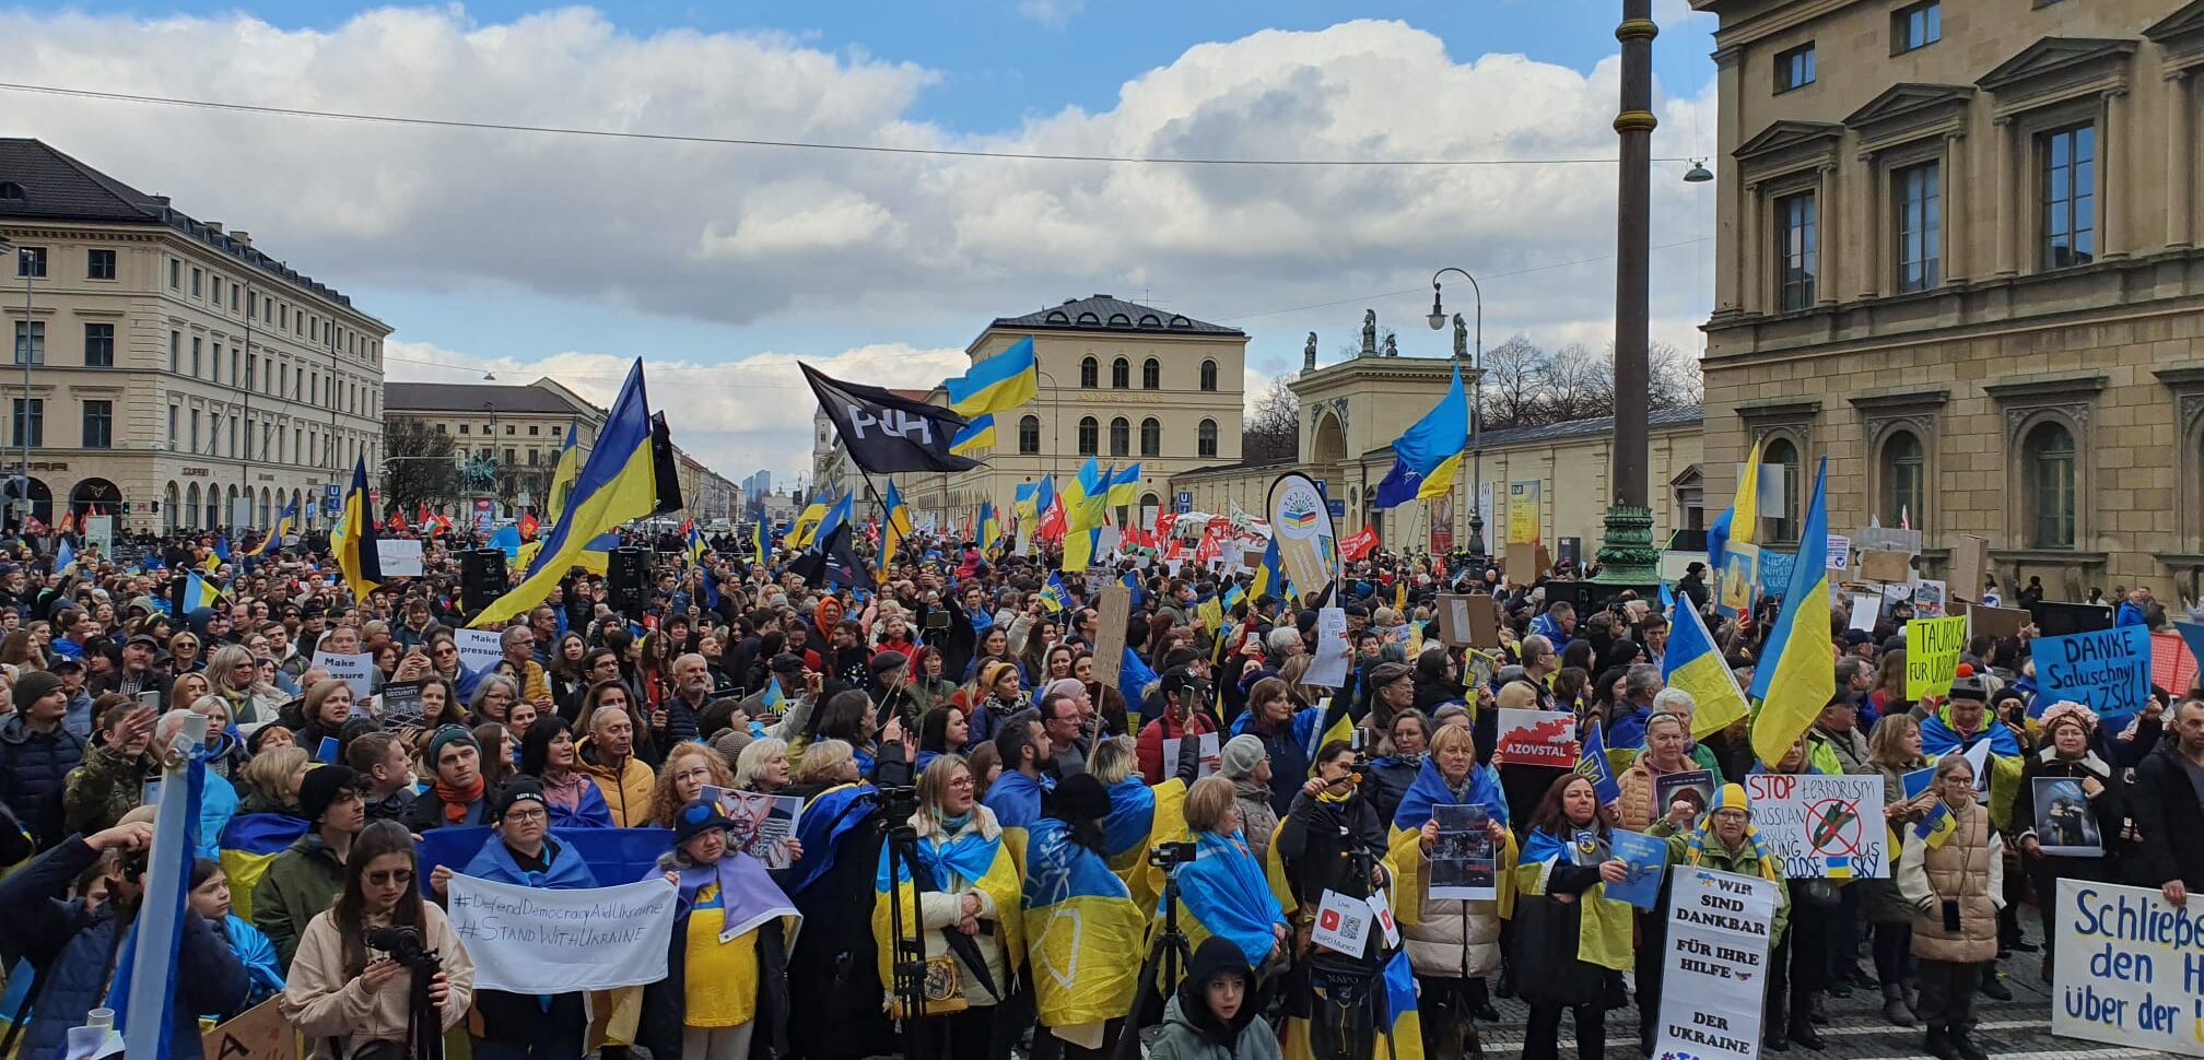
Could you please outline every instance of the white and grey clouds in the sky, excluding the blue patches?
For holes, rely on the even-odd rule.
[[[1031,18],[1078,11],[1076,0],[1027,7]],[[1686,37],[1666,26],[1662,48],[1693,48]],[[0,13],[0,40],[18,44],[9,79],[29,84],[595,130],[1137,156],[1616,150],[1616,62],[1587,75],[1525,55],[1455,60],[1450,51],[1472,55],[1477,42],[1373,20],[1197,44],[1131,73],[1106,110],[1065,108],[981,132],[912,117],[937,71],[782,33],[633,35],[588,9],[500,24],[458,7],[379,9],[320,31],[251,15],[13,11]],[[1693,88],[1662,99],[1655,154],[1704,152],[1713,139],[1713,86]],[[1598,258],[1613,251],[1613,165],[1100,165],[401,128],[13,93],[4,104],[9,132],[251,229],[271,253],[353,289],[520,289],[672,320],[769,322],[778,335],[829,322],[895,335],[912,320],[974,333],[1065,295],[1153,289],[1181,313],[1250,328],[1252,370],[1267,377],[1298,368],[1309,328],[1329,359],[1364,304],[1402,328],[1404,353],[1444,353],[1419,326],[1428,293],[1355,295],[1417,291],[1433,269],[1459,264],[1492,278],[1488,344],[1516,331],[1543,342],[1611,331],[1613,264]],[[1713,194],[1677,181],[1679,170],[1655,170],[1653,242],[1706,242],[1655,251],[1653,317],[1655,337],[1699,348]],[[1569,260],[1589,262],[1543,269]],[[1468,309],[1455,306],[1466,291],[1448,298]],[[1351,302],[1267,313],[1336,300]],[[1234,320],[1241,313],[1265,315]],[[406,320],[392,324],[434,342]],[[547,350],[555,342],[542,339]],[[912,386],[961,364],[930,359],[950,350],[866,350],[890,353],[838,357],[868,370],[864,357],[875,357],[882,372],[928,366],[930,379],[901,375]],[[635,353],[536,364],[586,366],[611,388]],[[692,432],[725,439],[725,461],[793,467],[809,397],[741,397],[741,381],[765,366],[652,361],[672,383],[655,390],[725,425]],[[694,386],[679,386],[679,372],[694,372]],[[787,397],[800,401],[778,401]]]

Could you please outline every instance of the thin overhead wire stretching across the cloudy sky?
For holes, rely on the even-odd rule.
[[[606,130],[606,128],[522,126],[511,121],[366,115],[355,110],[309,110],[289,106],[262,106],[262,104],[227,104],[218,99],[101,93],[93,88],[62,88],[51,84],[20,84],[20,82],[0,82],[0,90],[57,95],[71,99],[101,99],[112,104],[150,104],[150,106],[176,106],[194,110],[231,110],[245,115],[368,121],[381,126],[456,128],[456,130],[478,130],[478,132],[536,132],[553,137],[597,137],[597,139],[630,139],[630,141],[663,141],[663,143],[716,143],[730,148],[912,154],[912,156],[934,156],[934,159],[1065,161],[1065,163],[1109,163],[1109,165],[1395,167],[1395,170],[1457,167],[1457,165],[1613,165],[1616,163],[1616,159],[1173,159],[1173,156],[1148,156],[1148,154],[1049,154],[1049,152],[1012,152],[1012,150],[899,148],[888,143],[822,143],[822,141],[785,141],[785,139],[752,139],[752,137],[705,137],[694,132],[628,132],[628,130]],[[1653,161],[1682,163],[1690,159],[1653,159]]]

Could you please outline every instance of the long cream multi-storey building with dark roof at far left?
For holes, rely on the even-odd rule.
[[[390,326],[342,291],[35,139],[0,139],[0,469],[42,522],[267,527],[372,483]]]

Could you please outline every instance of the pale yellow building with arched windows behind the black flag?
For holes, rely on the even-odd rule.
[[[897,476],[921,520],[934,513],[961,524],[981,500],[1007,511],[1018,483],[1042,474],[1067,483],[1089,456],[1115,467],[1139,463],[1137,507],[1120,511],[1137,518],[1139,507],[1168,505],[1170,476],[1239,461],[1247,333],[1093,295],[996,317],[965,353],[976,364],[1027,335],[1040,361],[1040,394],[996,414],[996,447],[974,454],[987,465],[957,476]],[[946,403],[941,388],[928,401]]]

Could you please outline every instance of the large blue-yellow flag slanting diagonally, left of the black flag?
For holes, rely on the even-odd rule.
[[[503,624],[542,604],[566,569],[588,551],[591,540],[622,522],[644,518],[657,507],[657,476],[650,458],[650,399],[644,390],[644,361],[628,368],[628,379],[613,399],[597,447],[588,452],[566,500],[566,516],[544,540],[529,575],[509,593],[483,608],[474,626]]]

